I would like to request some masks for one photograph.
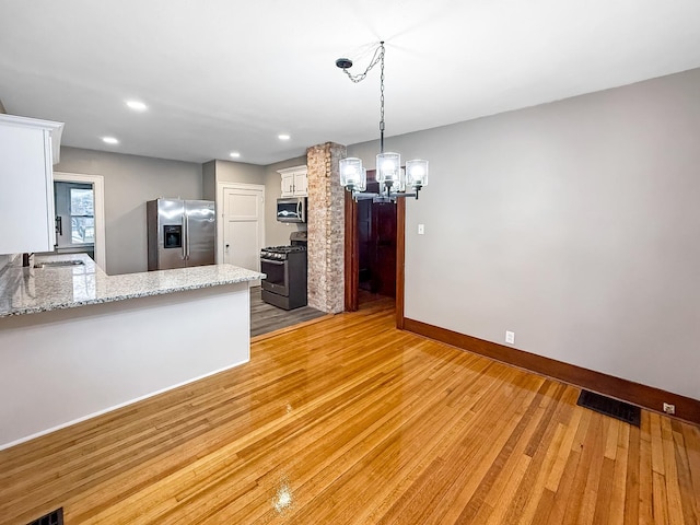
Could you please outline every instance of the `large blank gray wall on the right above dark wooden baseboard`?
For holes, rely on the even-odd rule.
[[[431,168],[406,316],[700,399],[698,93],[691,70],[387,139]]]

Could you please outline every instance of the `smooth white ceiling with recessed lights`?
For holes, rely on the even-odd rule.
[[[0,0],[0,13],[8,113],[66,122],[65,145],[192,162],[377,138],[378,71],[353,84],[335,60],[358,73],[381,39],[387,136],[700,67],[698,0]]]

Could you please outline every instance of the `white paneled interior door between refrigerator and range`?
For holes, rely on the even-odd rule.
[[[223,262],[260,271],[260,249],[265,243],[264,187],[224,186],[222,194]]]

